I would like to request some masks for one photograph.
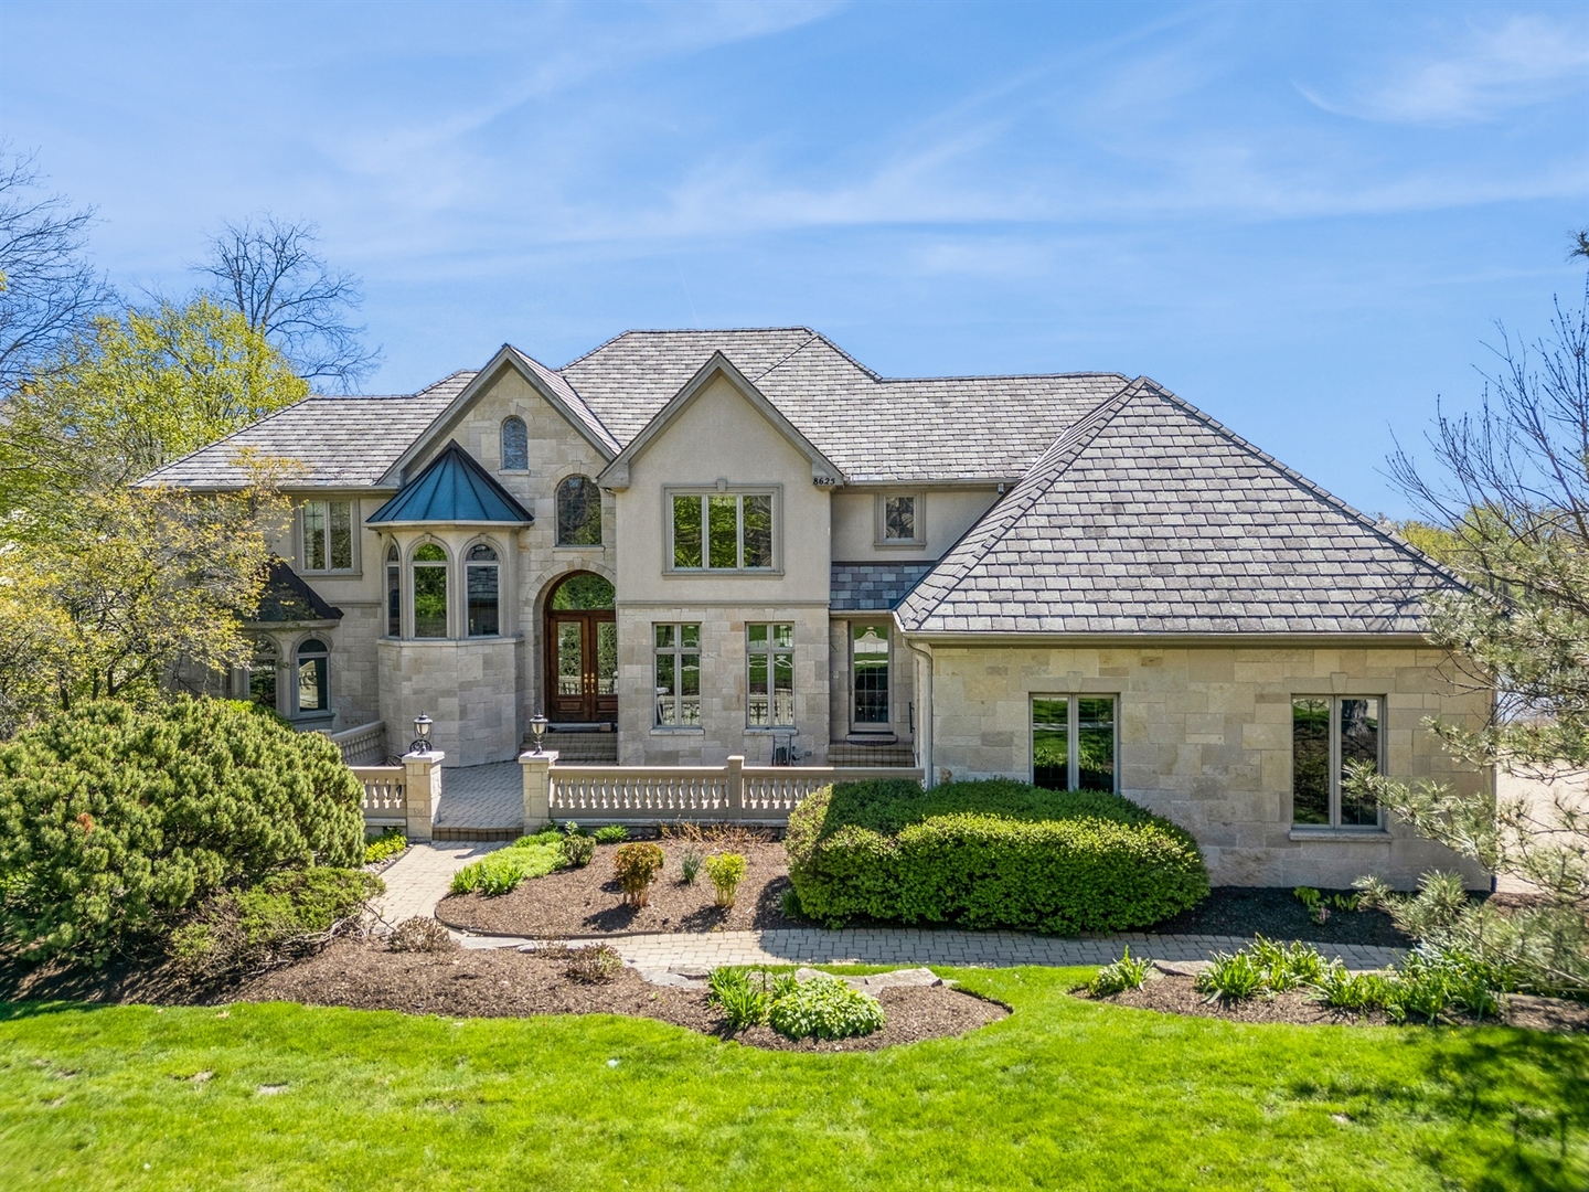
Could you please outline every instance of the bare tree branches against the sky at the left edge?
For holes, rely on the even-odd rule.
[[[40,194],[30,153],[0,145],[0,394],[14,393],[41,361],[114,297],[83,257],[94,208]]]

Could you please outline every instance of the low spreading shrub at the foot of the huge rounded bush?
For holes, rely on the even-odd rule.
[[[385,888],[362,869],[315,866],[270,874],[246,890],[205,900],[172,931],[170,954],[180,969],[199,979],[292,960],[324,942],[335,923],[358,915]]]

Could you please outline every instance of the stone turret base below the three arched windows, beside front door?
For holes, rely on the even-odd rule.
[[[435,722],[431,739],[448,768],[518,757],[520,637],[396,641],[378,644],[386,749],[407,750],[413,720]]]

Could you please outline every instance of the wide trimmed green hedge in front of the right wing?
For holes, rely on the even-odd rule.
[[[1170,820],[1119,795],[1003,779],[826,787],[790,815],[785,847],[801,912],[831,927],[1122,931],[1208,895],[1197,842]]]

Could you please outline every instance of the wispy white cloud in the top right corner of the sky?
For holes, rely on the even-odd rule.
[[[1514,14],[1435,56],[1387,65],[1332,94],[1301,83],[1313,103],[1341,116],[1398,124],[1463,124],[1581,91],[1589,83],[1589,37],[1541,16]]]

